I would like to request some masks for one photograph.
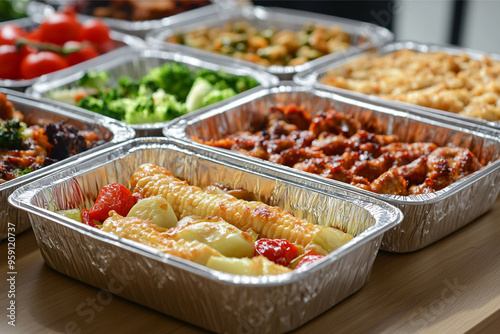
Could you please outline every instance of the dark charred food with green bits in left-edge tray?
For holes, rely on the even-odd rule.
[[[0,184],[104,143],[65,121],[30,125],[0,93]]]

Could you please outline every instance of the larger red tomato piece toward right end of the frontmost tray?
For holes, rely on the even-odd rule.
[[[297,246],[285,239],[262,238],[255,242],[255,255],[265,256],[274,263],[288,267],[297,257]]]

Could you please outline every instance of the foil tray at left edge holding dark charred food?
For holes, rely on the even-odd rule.
[[[14,107],[24,114],[24,122],[28,125],[44,125],[66,119],[68,124],[72,124],[79,129],[93,130],[107,141],[107,143],[99,147],[0,184],[0,240],[2,240],[7,238],[8,231],[11,232],[11,230],[8,230],[9,227],[15,227],[15,234],[19,234],[30,227],[26,212],[8,205],[7,199],[14,190],[43,176],[64,170],[68,164],[77,159],[85,160],[89,155],[98,152],[100,149],[134,138],[135,134],[134,130],[122,122],[97,114],[82,113],[78,108],[56,106],[45,99],[35,100],[24,93],[8,89],[0,88],[0,93],[6,94],[7,99],[14,104]]]

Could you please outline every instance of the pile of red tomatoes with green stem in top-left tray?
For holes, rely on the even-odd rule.
[[[0,79],[34,79],[95,58],[113,48],[99,19],[84,23],[71,10],[55,12],[35,29],[0,25]]]

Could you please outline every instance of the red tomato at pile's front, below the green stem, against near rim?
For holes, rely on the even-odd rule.
[[[23,58],[21,61],[21,76],[24,79],[33,79],[66,67],[68,67],[68,64],[62,56],[50,51],[40,51]]]

